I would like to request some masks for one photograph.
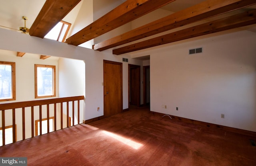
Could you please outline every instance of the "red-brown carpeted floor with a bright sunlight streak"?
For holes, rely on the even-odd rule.
[[[247,136],[133,109],[0,147],[28,166],[256,166]]]

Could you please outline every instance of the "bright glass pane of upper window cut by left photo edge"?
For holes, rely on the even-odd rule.
[[[12,98],[12,66],[0,64],[0,99]]]

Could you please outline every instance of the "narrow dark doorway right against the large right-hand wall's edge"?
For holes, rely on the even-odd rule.
[[[150,66],[143,66],[143,104],[150,105]]]

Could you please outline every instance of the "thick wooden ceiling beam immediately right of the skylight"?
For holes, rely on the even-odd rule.
[[[120,6],[66,39],[66,43],[78,46],[173,1],[175,0],[126,0]]]

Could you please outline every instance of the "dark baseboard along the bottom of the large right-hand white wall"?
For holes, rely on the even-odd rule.
[[[166,115],[164,113],[159,113],[159,112],[154,112],[154,111],[150,111],[150,113],[158,114],[158,115],[161,115],[161,116]],[[251,137],[256,137],[256,132],[253,132],[253,131],[237,129],[237,128],[234,128],[234,127],[227,127],[227,126],[217,125],[217,124],[213,124],[213,123],[207,123],[207,122],[203,122],[203,121],[197,121],[197,120],[188,119],[188,118],[184,118],[184,117],[173,116],[173,115],[170,115],[170,117],[172,117],[173,120],[177,120],[177,121],[184,121],[184,122],[187,122],[187,123],[193,123],[193,124],[196,124],[196,125],[202,125],[202,126],[206,126],[206,127],[212,127],[212,128],[222,129],[224,131],[229,131],[229,132],[233,132],[233,133],[238,133],[238,134],[248,135],[248,136],[251,136]]]

